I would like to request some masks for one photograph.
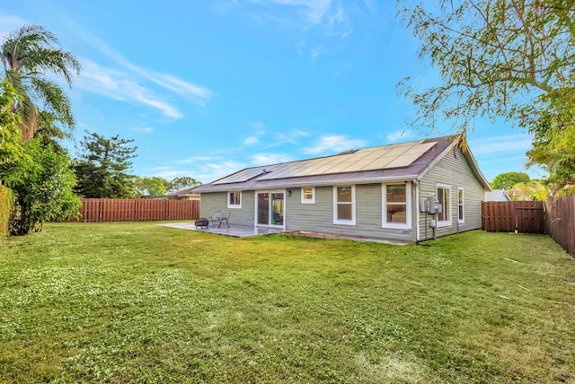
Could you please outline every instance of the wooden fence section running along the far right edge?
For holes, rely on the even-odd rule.
[[[547,233],[575,257],[575,195],[545,201]]]

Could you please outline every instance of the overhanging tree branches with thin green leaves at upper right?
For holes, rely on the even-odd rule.
[[[575,0],[401,4],[420,57],[442,78],[429,88],[399,84],[419,109],[412,125],[447,118],[465,130],[475,117],[505,118],[534,134],[527,155],[558,188],[575,181]]]

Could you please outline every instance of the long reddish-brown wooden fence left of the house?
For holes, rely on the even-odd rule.
[[[146,222],[195,220],[199,217],[197,200],[147,200],[83,198],[80,222]]]

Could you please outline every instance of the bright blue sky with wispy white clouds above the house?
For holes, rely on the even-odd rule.
[[[0,34],[54,32],[83,65],[68,90],[77,127],[134,139],[139,176],[202,182],[255,165],[423,137],[396,83],[437,83],[394,1],[50,1],[0,5]],[[525,170],[530,137],[477,120],[486,179]],[[74,155],[74,144],[68,144]]]

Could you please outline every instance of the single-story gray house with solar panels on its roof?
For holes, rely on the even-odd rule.
[[[231,211],[231,225],[405,242],[479,229],[491,187],[456,138],[240,170],[194,188],[200,216]]]

